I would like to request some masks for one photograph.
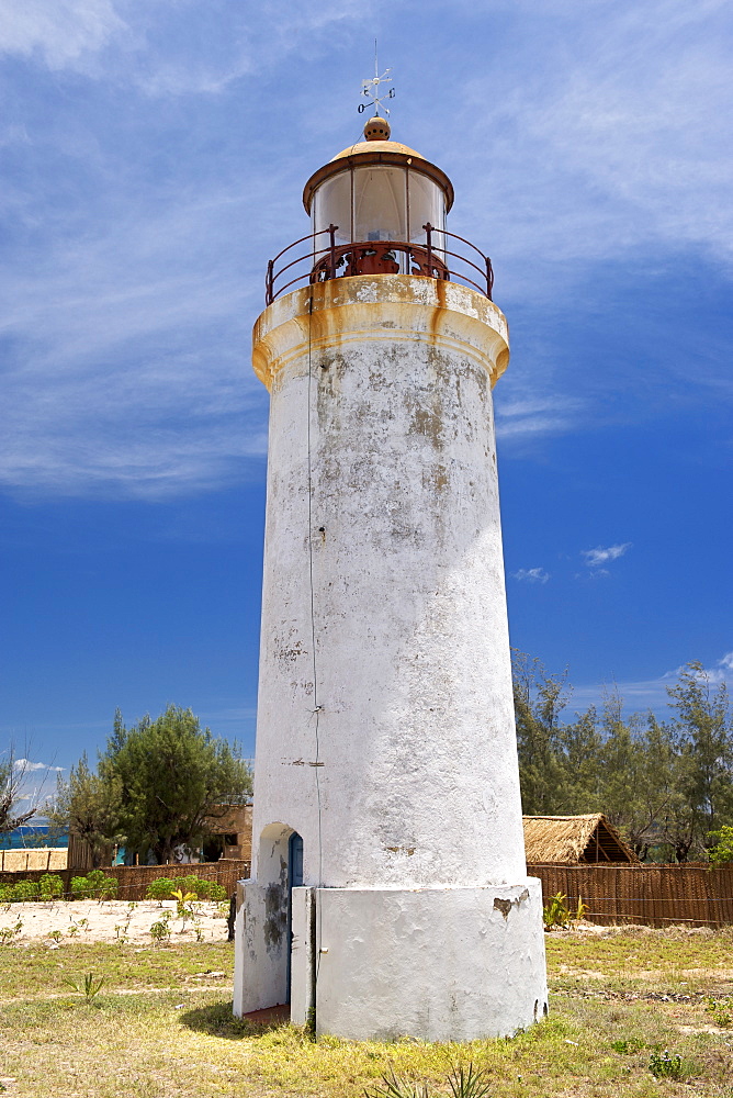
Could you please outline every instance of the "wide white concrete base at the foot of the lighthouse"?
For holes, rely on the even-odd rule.
[[[292,897],[296,1024],[315,1008],[318,1034],[472,1041],[510,1035],[546,1013],[535,878],[480,888],[294,888]],[[241,1013],[270,1005],[257,973],[273,956],[263,965],[252,928],[237,929]]]

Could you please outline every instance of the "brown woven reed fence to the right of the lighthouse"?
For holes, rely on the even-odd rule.
[[[586,918],[601,926],[639,922],[647,927],[733,923],[733,866],[707,865],[556,865],[531,864],[546,904],[563,893],[570,907],[578,897]]]

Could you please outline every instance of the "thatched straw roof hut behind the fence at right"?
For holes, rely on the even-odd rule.
[[[523,816],[522,821],[528,863],[639,864],[633,850],[600,813],[588,816]]]

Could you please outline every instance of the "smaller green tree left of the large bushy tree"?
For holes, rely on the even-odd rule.
[[[105,848],[120,836],[122,782],[110,773],[104,777],[90,771],[87,754],[71,768],[68,782],[58,777],[56,798],[48,819],[57,828],[68,828],[86,840],[94,869],[102,864]]]

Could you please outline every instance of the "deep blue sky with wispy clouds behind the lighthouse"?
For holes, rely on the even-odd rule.
[[[512,643],[733,677],[733,15],[718,0],[0,0],[0,749],[191,706],[253,750],[267,260],[392,66],[512,338]],[[361,120],[363,121],[363,119]]]

